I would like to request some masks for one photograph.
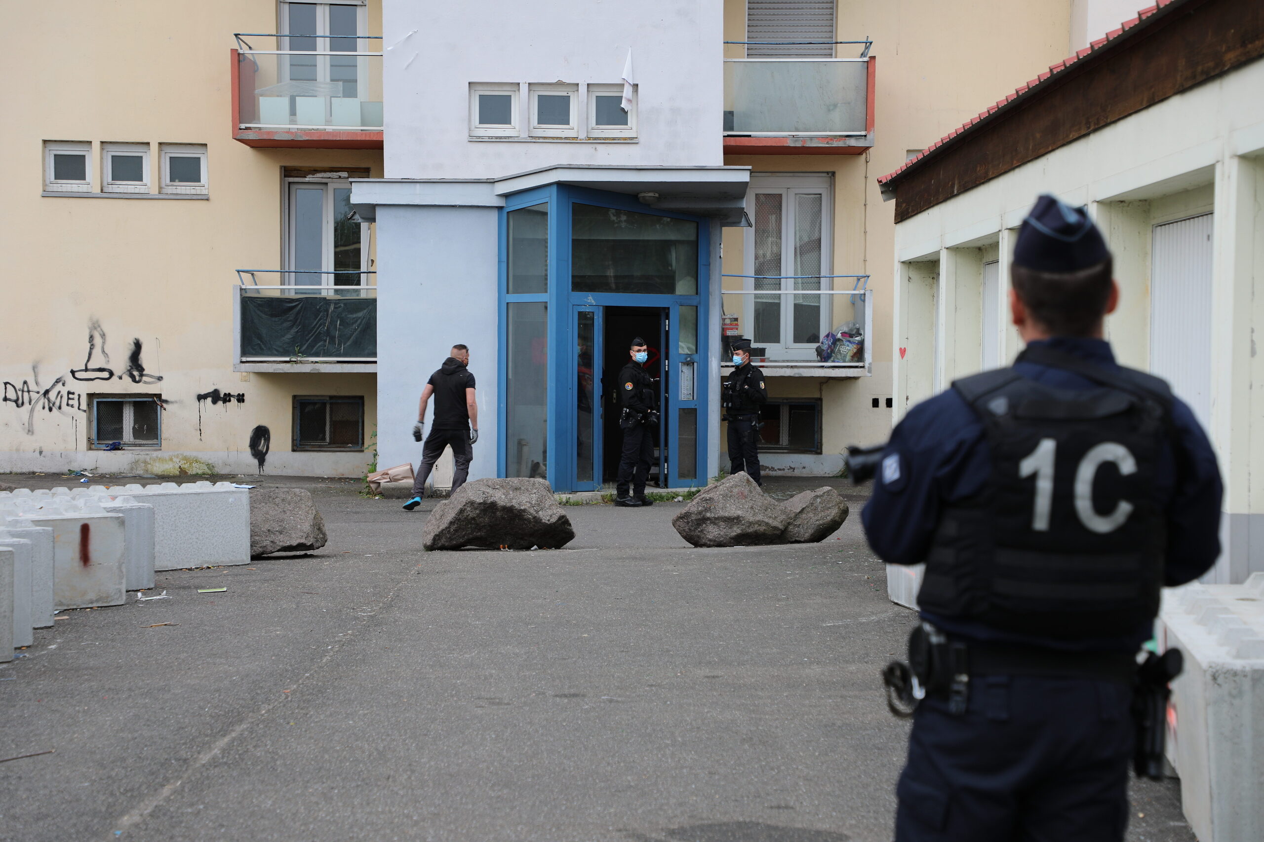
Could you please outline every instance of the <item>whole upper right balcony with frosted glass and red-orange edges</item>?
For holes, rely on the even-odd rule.
[[[860,56],[724,59],[726,154],[860,154],[873,145],[872,42],[834,44]]]

